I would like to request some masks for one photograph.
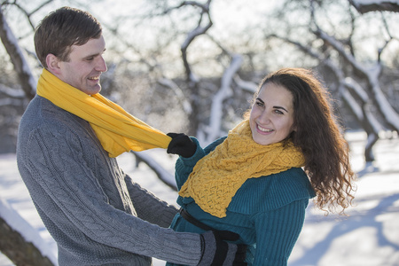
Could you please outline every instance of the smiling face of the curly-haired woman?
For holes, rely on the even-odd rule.
[[[285,87],[268,82],[252,106],[249,125],[254,142],[278,143],[293,132],[293,95]]]

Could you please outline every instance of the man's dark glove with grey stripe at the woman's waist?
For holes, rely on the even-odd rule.
[[[239,239],[231,231],[207,231],[201,235],[202,257],[198,266],[246,266],[246,245],[224,242]]]

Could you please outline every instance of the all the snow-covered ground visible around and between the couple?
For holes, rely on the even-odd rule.
[[[372,165],[364,164],[364,133],[352,132],[347,138],[351,162],[359,177],[355,205],[349,207],[348,217],[325,216],[310,206],[290,266],[399,266],[399,138],[379,140]],[[160,150],[145,153],[173,172],[176,157]],[[139,184],[175,203],[176,192],[162,184],[145,164],[136,168],[131,153],[122,154],[118,160]],[[20,179],[15,154],[0,155],[0,169],[0,216],[56,262],[57,246]],[[12,265],[0,254],[0,266]],[[154,265],[164,262],[154,260]]]

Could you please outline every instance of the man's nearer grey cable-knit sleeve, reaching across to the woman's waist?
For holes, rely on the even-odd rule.
[[[34,192],[31,194],[36,206],[46,210],[51,224],[62,231],[56,236],[63,238],[59,239],[59,245],[68,248],[63,245],[101,243],[168,262],[198,264],[201,256],[199,234],[161,228],[108,203],[103,187],[86,165],[80,137],[73,131],[43,128],[33,131],[21,147],[19,167],[27,173],[24,176],[31,176],[24,181]],[[143,210],[140,212],[144,215]]]

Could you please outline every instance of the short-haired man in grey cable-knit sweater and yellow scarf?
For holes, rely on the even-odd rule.
[[[119,154],[166,148],[170,137],[98,93],[106,72],[98,20],[69,7],[51,12],[36,28],[35,50],[44,69],[20,121],[17,160],[58,244],[59,265],[151,265],[151,257],[244,265],[241,246],[223,242],[219,233],[168,229],[176,207],[118,167]]]

